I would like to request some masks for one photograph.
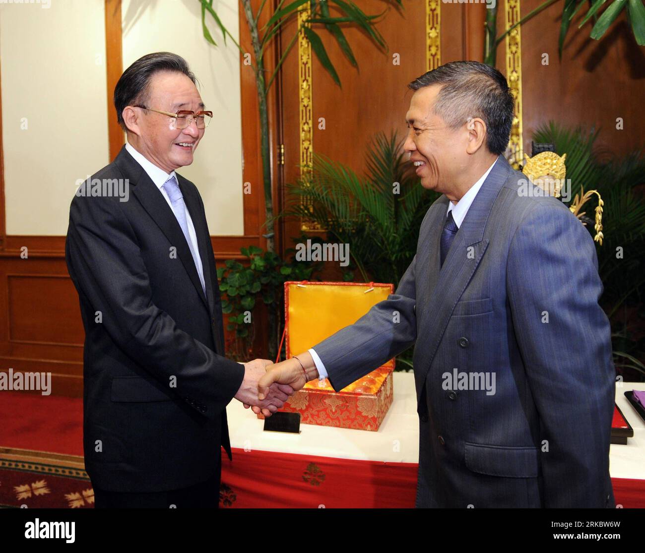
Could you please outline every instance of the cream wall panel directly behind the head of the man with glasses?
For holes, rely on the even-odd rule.
[[[237,0],[215,0],[213,8],[239,38]],[[191,166],[177,172],[192,180],[204,200],[212,235],[243,235],[242,130],[239,50],[224,45],[219,29],[206,21],[217,46],[204,39],[197,0],[123,0],[123,68],[146,53],[174,52],[186,59],[201,83],[199,93],[213,121]]]

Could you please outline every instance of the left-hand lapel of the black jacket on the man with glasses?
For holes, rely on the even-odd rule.
[[[164,199],[161,191],[159,191],[157,186],[155,186],[152,179],[148,177],[148,173],[143,170],[143,167],[141,167],[141,165],[139,165],[128,153],[125,146],[121,148],[119,155],[117,155],[117,158],[115,159],[115,163],[119,168],[121,168],[123,174],[130,179],[130,185],[134,185],[132,186],[134,195],[137,197],[139,202],[141,202],[141,205],[148,212],[148,215],[152,217],[152,220],[154,220],[159,229],[161,229],[164,235],[166,235],[170,244],[177,248],[177,257],[181,260],[193,286],[197,289],[199,297],[204,302],[204,306],[208,309],[208,303],[204,297],[201,280],[199,280],[199,276],[197,275],[197,268],[195,267],[192,253],[190,253],[188,242],[186,242],[186,237],[184,237],[181,226],[179,226],[179,222],[177,222],[177,217],[175,217],[172,209],[168,206],[168,202]],[[182,189],[182,193],[183,192],[184,189]],[[184,199],[184,203],[185,202],[186,200]],[[192,217],[192,213],[190,216]],[[195,232],[197,232],[197,229],[195,229]],[[201,246],[199,247],[201,249]],[[204,280],[206,280],[205,275]],[[206,282],[208,281],[206,280]]]

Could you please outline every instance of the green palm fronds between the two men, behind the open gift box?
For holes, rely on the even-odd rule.
[[[419,184],[404,160],[395,133],[378,133],[366,153],[366,173],[323,155],[313,169],[288,186],[294,200],[281,216],[301,217],[350,244],[350,257],[364,282],[398,284],[414,257],[419,226],[438,194]]]

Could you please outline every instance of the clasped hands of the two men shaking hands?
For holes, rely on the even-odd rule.
[[[235,399],[256,414],[271,416],[289,396],[310,380],[318,378],[318,371],[308,351],[296,357],[275,365],[268,359],[244,363],[244,379]]]

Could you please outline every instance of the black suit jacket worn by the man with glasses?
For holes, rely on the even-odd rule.
[[[223,357],[201,197],[177,175],[206,296],[172,209],[125,148],[91,178],[128,179],[130,195],[126,202],[77,195],[70,208],[65,253],[85,328],[86,470],[95,486],[121,492],[208,480],[221,467],[221,445],[230,456],[226,405],[244,368]]]

